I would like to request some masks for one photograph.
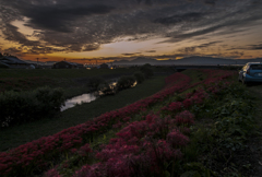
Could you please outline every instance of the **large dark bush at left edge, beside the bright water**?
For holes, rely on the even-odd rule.
[[[21,125],[60,111],[64,104],[61,88],[40,87],[34,92],[0,93],[0,127]]]

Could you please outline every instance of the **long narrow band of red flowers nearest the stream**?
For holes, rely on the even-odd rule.
[[[92,139],[95,132],[105,131],[110,128],[117,119],[123,119],[132,114],[145,110],[148,106],[163,101],[174,92],[179,92],[187,87],[190,82],[190,78],[181,73],[175,73],[172,78],[176,79],[176,81],[179,80],[179,84],[169,86],[151,97],[139,101],[121,109],[106,113],[85,123],[64,129],[57,134],[43,137],[38,140],[20,145],[16,149],[12,149],[9,152],[1,152],[0,175],[10,175],[15,172],[22,173],[17,172],[17,169],[24,169],[26,172],[26,168],[34,169],[39,166],[45,169],[48,166],[47,162],[72,148],[81,146],[83,143],[87,142],[86,138]],[[171,85],[171,83],[169,83],[169,85]]]

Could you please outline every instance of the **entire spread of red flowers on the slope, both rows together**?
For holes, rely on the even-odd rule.
[[[0,153],[0,176],[28,175],[28,169],[45,170],[49,162],[63,153],[79,153],[88,156],[92,152],[87,142],[93,137],[111,128],[122,128],[117,139],[111,139],[96,157],[100,161],[85,165],[74,176],[132,176],[132,174],[159,173],[163,162],[182,157],[180,149],[190,141],[184,134],[190,133],[187,127],[194,122],[194,116],[187,109],[193,104],[201,104],[210,94],[217,93],[226,84],[217,84],[233,72],[203,70],[207,76],[204,81],[190,85],[191,79],[182,73],[166,78],[166,86],[160,92],[134,104],[100,115],[94,120],[64,129],[53,135],[20,145],[8,152]],[[168,111],[179,113],[174,118],[160,118],[159,115],[148,114],[142,121],[129,122],[131,116],[146,110],[155,103],[163,102],[175,92],[182,92],[200,83],[207,85],[187,95],[182,102],[170,103],[165,107]],[[183,126],[181,126],[183,125]],[[179,126],[181,128],[179,128]],[[183,133],[182,133],[183,132]],[[142,170],[143,169],[143,170]],[[53,168],[46,176],[59,176]]]

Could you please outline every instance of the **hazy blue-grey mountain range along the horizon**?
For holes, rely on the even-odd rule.
[[[120,60],[114,61],[114,66],[142,66],[150,63],[152,66],[183,66],[183,64],[193,64],[193,66],[217,66],[217,64],[246,64],[247,62],[260,62],[262,58],[257,59],[225,59],[225,58],[213,58],[213,57],[188,57],[179,60],[156,60],[153,58],[138,57],[134,60]]]

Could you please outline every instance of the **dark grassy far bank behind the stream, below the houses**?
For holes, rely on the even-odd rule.
[[[67,98],[88,92],[88,79],[102,76],[105,80],[121,75],[132,75],[140,68],[119,69],[48,69],[48,70],[17,70],[0,69],[0,92],[3,91],[32,91],[39,86],[62,87]],[[169,68],[153,67],[156,74],[170,74]]]

